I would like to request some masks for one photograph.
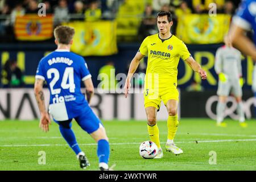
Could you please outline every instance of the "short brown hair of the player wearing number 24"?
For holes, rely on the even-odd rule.
[[[57,39],[60,44],[68,45],[75,35],[75,29],[68,26],[58,26],[53,33],[55,39]]]

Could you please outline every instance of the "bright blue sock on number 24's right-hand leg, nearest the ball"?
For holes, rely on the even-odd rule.
[[[98,140],[97,155],[100,163],[109,162],[109,142],[105,139]]]

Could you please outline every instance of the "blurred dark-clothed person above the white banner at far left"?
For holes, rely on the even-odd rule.
[[[7,60],[2,72],[2,77],[6,80],[6,87],[20,87],[24,85],[24,76],[18,67],[16,60]]]

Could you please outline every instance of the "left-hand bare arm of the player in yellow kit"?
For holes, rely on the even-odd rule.
[[[131,87],[131,83],[130,83],[131,78],[133,77],[134,72],[138,68],[139,61],[141,61],[141,59],[143,57],[144,57],[144,55],[142,55],[141,52],[137,52],[136,55],[134,56],[133,60],[131,60],[129,71],[128,71],[127,78],[125,81],[125,97],[127,97],[130,87]]]

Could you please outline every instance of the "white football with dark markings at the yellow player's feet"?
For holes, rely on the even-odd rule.
[[[139,146],[139,155],[144,159],[153,159],[158,154],[158,147],[152,141],[145,141]]]

